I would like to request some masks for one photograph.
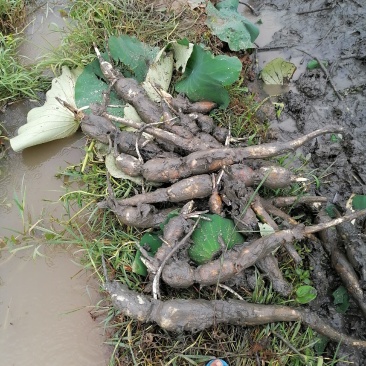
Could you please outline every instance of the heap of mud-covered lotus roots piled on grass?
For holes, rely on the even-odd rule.
[[[349,293],[366,316],[366,305],[359,276],[365,280],[365,267],[352,251],[338,249],[337,240],[329,240],[331,227],[349,224],[365,211],[331,220],[319,214],[314,226],[299,224],[281,210],[297,204],[324,203],[324,197],[302,196],[263,199],[258,187],[284,188],[301,180],[282,167],[273,166],[266,158],[294,151],[321,135],[341,133],[339,126],[327,126],[289,142],[245,146],[231,138],[230,131],[218,127],[208,113],[212,102],[191,103],[160,92],[160,103],[149,99],[135,79],[125,78],[111,64],[100,58],[101,69],[110,89],[124,103],[132,105],[142,122],[115,117],[105,105],[91,106],[92,113],[81,116],[84,133],[109,144],[117,167],[142,182],[142,193],[116,199],[109,196],[99,203],[109,208],[119,221],[128,226],[148,229],[165,222],[162,246],[154,257],[149,248],[140,247],[151,280],[152,297],[131,291],[126,285],[108,280],[105,288],[116,307],[140,321],[154,321],[172,331],[198,331],[213,324],[256,325],[274,321],[302,321],[318,333],[348,345],[366,347],[357,340],[333,329],[315,313],[304,308],[257,305],[243,300],[160,300],[161,280],[175,288],[218,285],[237,276],[254,264],[266,274],[275,291],[288,296],[291,285],[283,278],[273,254],[285,248],[295,263],[301,261],[293,241],[310,238],[322,245],[329,260],[343,280]],[[156,88],[158,90],[158,87]],[[105,103],[106,104],[106,103]],[[79,114],[80,111],[75,113]],[[120,126],[129,127],[129,130]],[[131,128],[134,130],[131,131]],[[171,217],[172,211],[178,214]],[[218,235],[221,252],[211,261],[195,265],[186,252],[190,238],[206,213],[231,218],[245,240],[227,249]],[[258,222],[272,227],[273,233],[261,237]],[[320,232],[319,237],[314,233]],[[365,252],[364,243],[357,244]],[[216,258],[216,259],[215,259]]]

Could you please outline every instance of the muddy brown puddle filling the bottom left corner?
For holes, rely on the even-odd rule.
[[[97,285],[64,251],[0,259],[1,365],[105,366],[103,329],[89,311]]]

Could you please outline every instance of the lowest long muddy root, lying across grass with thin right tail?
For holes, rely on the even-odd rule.
[[[240,300],[151,300],[118,282],[107,282],[105,289],[114,306],[126,316],[142,322],[156,322],[161,328],[173,332],[197,332],[219,323],[253,326],[280,321],[301,321],[335,342],[366,348],[366,341],[338,332],[318,315],[307,310],[279,305],[257,305]]]

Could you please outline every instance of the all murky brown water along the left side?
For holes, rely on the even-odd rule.
[[[28,43],[20,49],[27,62],[59,40],[50,24],[63,22],[57,6],[46,3],[32,14]],[[27,112],[38,105],[26,101],[0,112],[2,130],[13,136],[26,123]],[[103,327],[89,313],[99,299],[98,284],[77,264],[77,249],[43,245],[39,250],[45,257],[33,259],[38,242],[27,241],[33,247],[10,254],[1,240],[17,237],[38,220],[47,227],[64,215],[58,202],[63,181],[55,174],[78,164],[83,146],[83,136],[76,134],[21,153],[8,151],[0,159],[0,366],[108,364]],[[24,203],[24,220],[14,194]]]

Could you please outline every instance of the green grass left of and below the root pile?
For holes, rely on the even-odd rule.
[[[94,151],[95,153],[95,151]],[[132,289],[141,291],[145,279],[131,271],[136,247],[135,242],[141,232],[134,228],[122,227],[115,216],[109,212],[95,209],[96,199],[106,194],[106,172],[102,164],[90,160],[84,173],[82,163],[69,167],[61,173],[73,180],[81,181],[88,189],[70,191],[63,201],[73,219],[64,223],[63,233],[54,233],[50,243],[78,245],[85,253],[84,265],[92,269],[103,281],[101,257],[107,259],[109,275],[122,281]],[[112,180],[117,195],[126,194],[131,187]],[[132,188],[133,189],[133,188]],[[72,209],[71,206],[74,206]],[[84,210],[83,206],[88,206]],[[77,215],[72,211],[78,211]],[[65,240],[65,238],[68,238]],[[302,245],[302,255],[306,247]],[[309,273],[305,268],[295,268],[285,253],[280,255],[282,271],[296,288],[309,283]],[[294,296],[283,298],[274,292],[259,272],[253,272],[255,288],[246,285],[236,288],[246,301],[261,304],[295,305]],[[211,286],[203,289],[167,290],[167,298],[204,298],[227,299],[233,295]],[[269,365],[331,365],[332,360],[320,358],[314,350],[314,343],[320,338],[309,328],[299,323],[275,323],[262,327],[235,327],[216,325],[197,334],[171,335],[154,324],[142,324],[131,320],[108,307],[108,303],[96,309],[105,316],[105,327],[110,338],[107,341],[113,347],[110,365],[203,365],[212,357],[226,359],[230,365],[257,365],[257,360]],[[319,363],[319,362],[322,363]]]

